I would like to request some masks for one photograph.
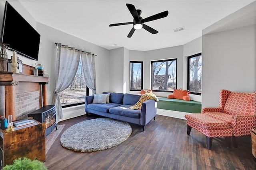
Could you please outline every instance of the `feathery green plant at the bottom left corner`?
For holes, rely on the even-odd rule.
[[[4,166],[3,170],[47,170],[47,168],[39,160],[30,160],[24,157],[14,160],[12,165]]]

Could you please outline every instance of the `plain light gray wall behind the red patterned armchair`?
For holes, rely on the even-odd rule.
[[[256,26],[203,35],[202,106],[218,106],[219,91],[256,90]]]

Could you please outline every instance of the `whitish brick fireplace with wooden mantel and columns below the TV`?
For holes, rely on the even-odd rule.
[[[31,68],[26,71],[26,66],[23,64],[22,74],[0,72],[0,114],[6,118],[8,115],[13,120],[24,118],[47,105],[48,77],[30,75],[33,67],[27,66]]]

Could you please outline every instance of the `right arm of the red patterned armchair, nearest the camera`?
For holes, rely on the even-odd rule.
[[[250,135],[252,128],[256,128],[256,114],[238,114],[232,116],[231,128],[233,136]]]

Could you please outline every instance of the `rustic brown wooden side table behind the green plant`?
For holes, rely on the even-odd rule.
[[[45,161],[45,123],[11,132],[0,129],[0,169],[22,157]]]

